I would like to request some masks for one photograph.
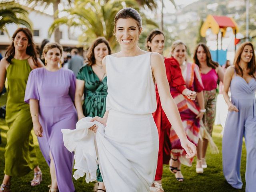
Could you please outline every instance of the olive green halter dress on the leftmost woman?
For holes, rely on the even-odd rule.
[[[7,144],[4,173],[24,176],[38,165],[31,130],[29,105],[24,102],[28,75],[32,69],[28,60],[12,59],[6,70],[8,96],[6,103]]]

